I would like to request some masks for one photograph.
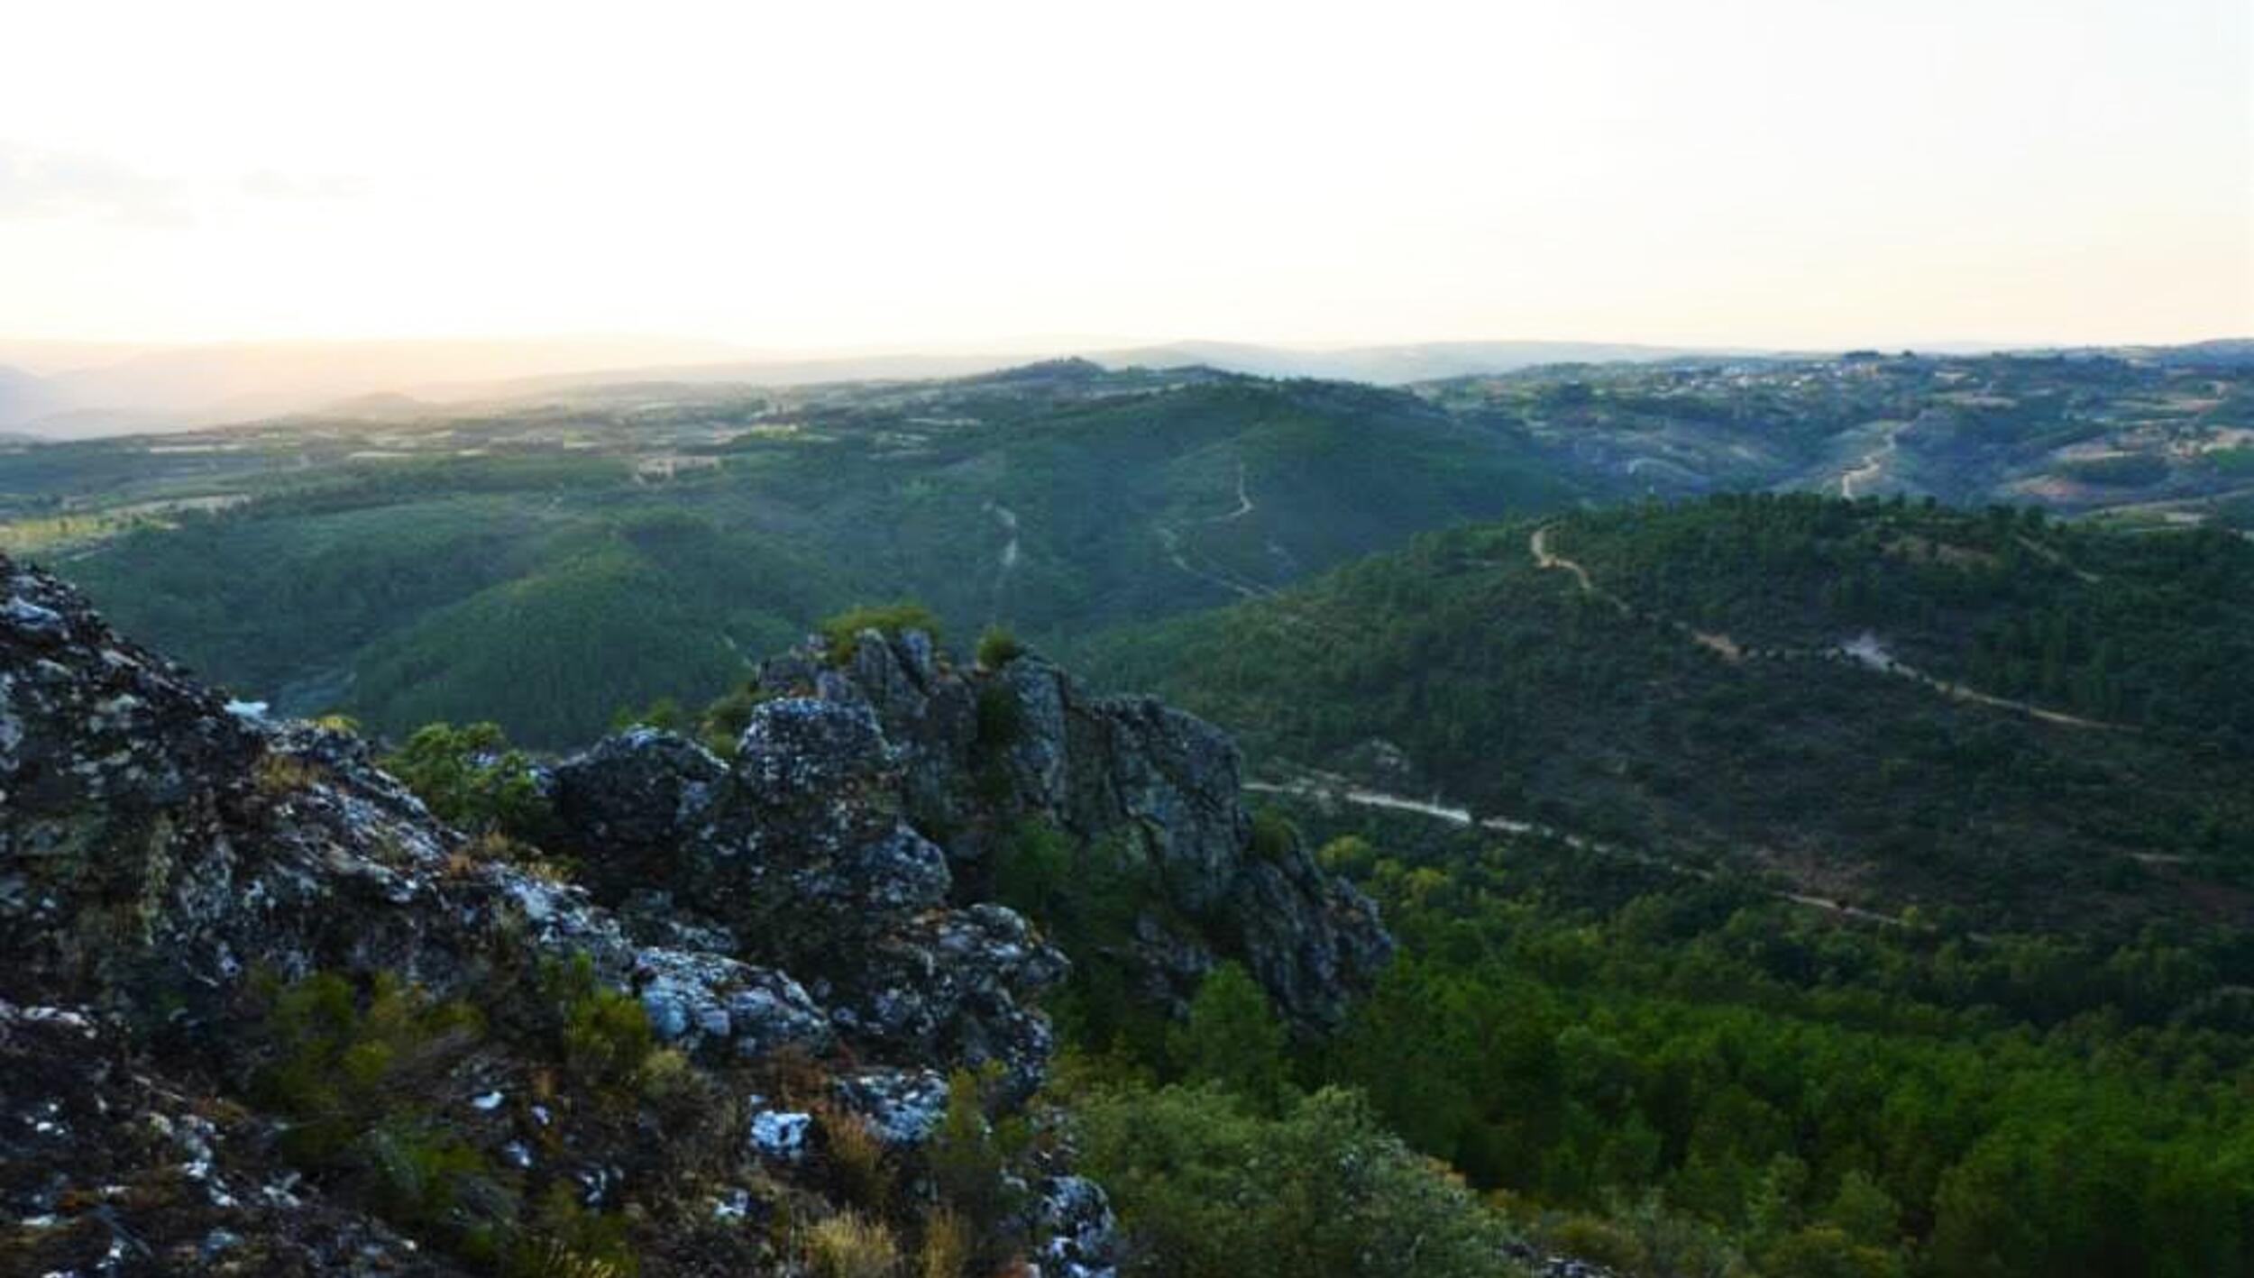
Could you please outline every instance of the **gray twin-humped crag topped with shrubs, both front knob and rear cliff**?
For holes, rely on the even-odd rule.
[[[773,699],[724,778],[706,751],[647,730],[561,764],[564,838],[588,866],[618,857],[624,877],[672,884],[676,904],[818,999],[836,989],[857,1032],[915,1050],[949,1044],[1032,1080],[1046,1028],[1017,1001],[1053,983],[1062,960],[996,940],[992,953],[1014,953],[1017,976],[962,953],[947,965],[969,976],[917,976],[917,965],[947,965],[931,949],[938,933],[911,926],[978,897],[996,845],[1023,823],[1111,841],[1141,866],[1163,908],[1136,920],[1125,958],[1161,1005],[1186,1005],[1213,965],[1235,958],[1296,1023],[1323,1028],[1391,953],[1377,908],[1305,847],[1255,852],[1242,760],[1201,719],[1145,696],[1089,696],[1037,656],[949,669],[920,633],[866,631],[843,669],[789,654],[760,683]],[[820,958],[848,951],[848,967]],[[960,1001],[962,985],[983,992]],[[929,989],[931,1003],[911,1008],[899,987]]]

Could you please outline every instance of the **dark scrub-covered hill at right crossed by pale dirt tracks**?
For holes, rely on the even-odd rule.
[[[1988,924],[2254,897],[2254,545],[1715,498],[1422,536],[1091,654],[1352,773]]]

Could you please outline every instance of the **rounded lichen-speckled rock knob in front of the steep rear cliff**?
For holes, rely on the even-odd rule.
[[[564,845],[597,866],[631,829],[631,879],[674,888],[676,926],[708,917],[739,958],[789,969],[854,1050],[999,1062],[1017,1093],[1039,1089],[1055,1039],[1030,1001],[1064,978],[1064,956],[1008,908],[947,908],[947,854],[899,818],[895,751],[866,703],[766,701],[735,766],[715,766],[667,733],[602,742],[554,769]],[[665,1023],[717,1019],[685,996],[665,1008]],[[755,1037],[775,1035],[807,1041],[791,1017]]]

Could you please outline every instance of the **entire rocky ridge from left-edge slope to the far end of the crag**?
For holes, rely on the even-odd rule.
[[[1035,999],[1068,960],[976,899],[1028,818],[1122,838],[1163,881],[1179,908],[1136,942],[1154,996],[1240,956],[1319,1026],[1388,947],[1303,847],[1253,854],[1219,733],[1037,658],[956,672],[922,636],[863,636],[843,669],[771,663],[735,760],[604,739],[545,778],[579,886],[435,820],[361,739],[198,685],[47,573],[0,559],[0,1269],[512,1271],[507,1233],[462,1224],[491,1199],[622,1228],[642,1273],[793,1271],[857,1141],[913,1195],[962,1071],[996,1113],[1039,1089]],[[412,1080],[487,1195],[444,1199],[440,1244],[397,1186],[307,1174],[293,1143],[327,1113],[243,1104],[286,1050],[273,992],[338,976],[370,1008],[403,985],[480,1012],[480,1037],[381,1075]],[[636,1059],[674,1064],[588,1082],[573,1035],[597,992],[647,1019]],[[1012,1154],[985,1244],[1109,1271],[1109,1208],[1068,1163],[1064,1141]]]

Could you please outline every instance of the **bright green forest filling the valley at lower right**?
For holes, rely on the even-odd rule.
[[[1298,811],[1402,942],[1301,1077],[1364,1089],[1555,1249],[1776,1278],[2254,1267],[2243,931],[1873,926],[1548,838]]]

